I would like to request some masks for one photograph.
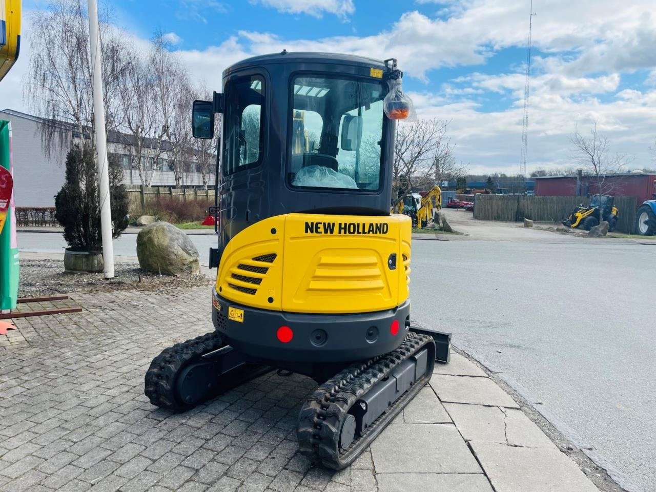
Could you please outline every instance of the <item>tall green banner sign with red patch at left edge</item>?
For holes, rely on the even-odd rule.
[[[5,120],[0,120],[0,166],[4,168],[0,170],[0,208],[6,213],[3,214],[6,220],[2,220],[4,225],[0,233],[0,310],[4,312],[14,309],[18,298],[18,240],[12,187],[14,169],[11,165],[11,123]]]

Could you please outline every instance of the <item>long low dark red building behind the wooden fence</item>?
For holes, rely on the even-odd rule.
[[[580,180],[580,181],[579,181]],[[594,176],[544,176],[535,178],[536,196],[586,196],[599,193]],[[623,173],[604,177],[602,193],[636,197],[638,205],[654,199],[656,174]]]

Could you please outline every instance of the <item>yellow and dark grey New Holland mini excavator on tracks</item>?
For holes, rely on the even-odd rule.
[[[215,332],[154,359],[155,405],[300,373],[323,383],[300,411],[300,449],[344,468],[430,379],[434,338],[410,326],[411,218],[389,209],[409,111],[386,96],[401,76],[396,60],[283,51],[231,66],[221,94],[194,102],[197,138],[222,113]]]

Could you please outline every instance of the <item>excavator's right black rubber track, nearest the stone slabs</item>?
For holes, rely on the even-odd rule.
[[[430,347],[432,346],[432,350]],[[429,348],[428,367],[424,376],[398,398],[387,411],[356,438],[347,449],[339,449],[339,436],[348,410],[369,391],[374,384],[388,377],[395,367]],[[430,380],[435,364],[435,345],[431,337],[419,333],[408,333],[392,352],[347,367],[325,383],[310,396],[298,417],[298,447],[301,453],[321,462],[324,466],[341,470],[346,468],[366,449],[396,415]]]

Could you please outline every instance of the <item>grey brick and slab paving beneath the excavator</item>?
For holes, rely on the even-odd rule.
[[[458,354],[331,472],[297,453],[309,379],[270,374],[180,415],[143,396],[150,359],[210,329],[207,289],[72,297],[83,312],[19,318],[0,338],[0,491],[597,490]]]

